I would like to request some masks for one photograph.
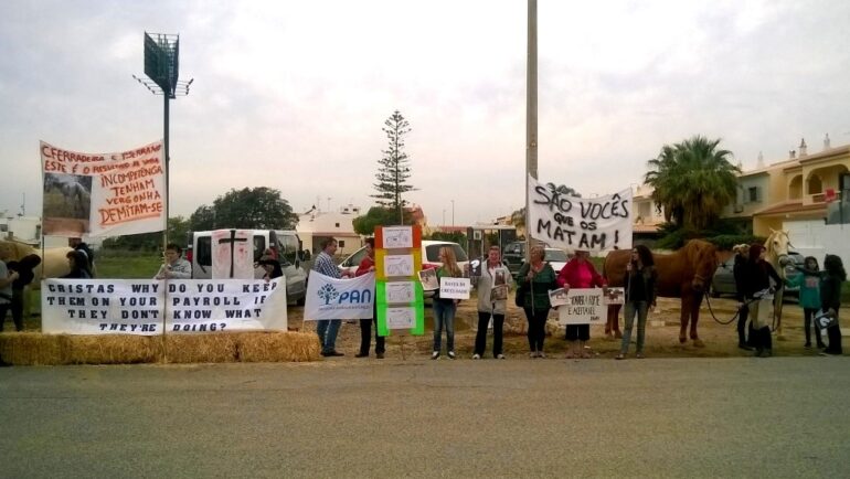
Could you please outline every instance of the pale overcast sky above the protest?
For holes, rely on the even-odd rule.
[[[585,196],[641,181],[665,143],[722,138],[745,169],[850,142],[846,0],[539,0],[539,172]],[[523,204],[522,0],[0,2],[0,212],[41,214],[39,140],[81,152],[162,137],[142,33],[180,34],[171,213],[231,188],[296,211],[373,204],[399,109],[407,200],[429,224]],[[444,213],[445,212],[445,213]]]

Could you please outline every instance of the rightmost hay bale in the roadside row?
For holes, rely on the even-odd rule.
[[[312,332],[245,332],[237,336],[243,362],[318,361],[321,348]]]

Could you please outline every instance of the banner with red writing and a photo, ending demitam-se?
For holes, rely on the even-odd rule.
[[[115,153],[79,153],[41,142],[43,232],[81,237],[162,231],[162,142]]]

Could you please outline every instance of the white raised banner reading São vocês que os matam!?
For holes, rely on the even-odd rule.
[[[631,190],[607,196],[577,198],[529,182],[529,227],[532,237],[556,248],[607,253],[631,247]]]

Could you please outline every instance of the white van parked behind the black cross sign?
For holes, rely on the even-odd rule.
[[[266,248],[277,252],[280,268],[286,277],[286,296],[289,302],[304,305],[307,295],[307,273],[301,266],[301,241],[291,230],[253,230],[254,263],[258,262]],[[212,232],[192,232],[192,278],[212,277]],[[261,279],[266,274],[262,266],[254,268],[254,278]]]

